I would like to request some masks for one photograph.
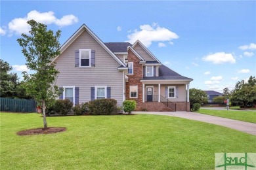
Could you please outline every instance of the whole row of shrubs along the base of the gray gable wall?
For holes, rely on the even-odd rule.
[[[122,107],[117,107],[117,101],[115,99],[96,99],[81,105],[75,105],[73,107],[72,101],[68,99],[56,100],[51,107],[47,107],[46,114],[50,116],[52,114],[59,114],[66,116],[70,112],[74,112],[75,115],[81,114],[117,114],[122,110]],[[125,112],[133,111],[136,108],[136,101],[124,101],[123,110]]]

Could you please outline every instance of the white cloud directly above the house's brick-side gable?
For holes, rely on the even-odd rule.
[[[141,41],[146,47],[150,46],[152,42],[171,41],[172,39],[179,39],[176,33],[173,33],[165,27],[160,27],[157,23],[152,25],[140,25],[140,31],[135,29],[133,33],[127,35],[128,42],[133,44],[135,41]]]

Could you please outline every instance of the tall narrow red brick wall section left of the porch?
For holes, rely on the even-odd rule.
[[[133,75],[128,76],[128,82],[125,83],[125,96],[126,99],[135,100],[137,102],[137,109],[142,109],[142,82],[140,82],[140,78],[143,76],[142,65],[139,63],[140,59],[133,54],[131,50],[128,50],[128,62],[133,62]],[[130,98],[130,86],[138,86],[138,98]]]

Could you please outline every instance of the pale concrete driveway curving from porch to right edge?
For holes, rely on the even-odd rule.
[[[199,114],[196,112],[133,112],[133,114],[158,114],[166,116],[175,116],[179,118],[207,122],[209,124],[217,124],[219,126],[229,127],[230,129],[236,129],[244,133],[256,135],[256,124],[243,122],[240,120],[232,120],[229,118],[211,116],[207,114]]]

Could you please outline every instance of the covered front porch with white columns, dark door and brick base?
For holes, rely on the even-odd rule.
[[[142,110],[190,111],[189,84],[142,82]]]

